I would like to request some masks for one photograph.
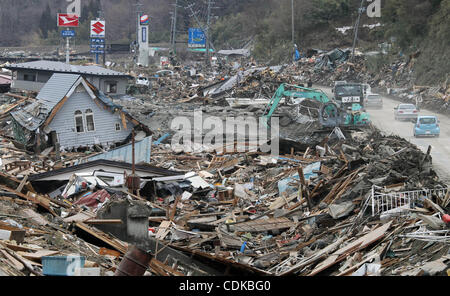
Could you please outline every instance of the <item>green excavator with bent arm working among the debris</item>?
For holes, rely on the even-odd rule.
[[[360,104],[364,100],[358,103],[351,102],[350,104],[350,102],[346,102],[342,104],[339,101],[330,100],[322,90],[283,83],[275,91],[264,110],[262,117],[267,127],[270,126],[270,119],[283,98],[289,98],[290,103],[294,105],[304,99],[320,102],[319,122],[322,128],[366,127],[370,124],[369,114],[364,111],[364,106]]]

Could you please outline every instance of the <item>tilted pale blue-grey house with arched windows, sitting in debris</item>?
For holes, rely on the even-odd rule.
[[[129,139],[133,129],[151,134],[148,127],[76,74],[53,74],[35,102],[11,116],[16,141],[30,150],[56,143],[61,149],[110,147]]]

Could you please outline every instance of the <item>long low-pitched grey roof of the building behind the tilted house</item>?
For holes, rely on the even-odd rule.
[[[116,76],[116,77],[131,77],[125,73],[113,71],[110,69],[102,68],[99,66],[76,66],[63,62],[54,61],[34,61],[20,64],[12,64],[7,67],[9,70],[41,70],[50,71],[56,73],[72,73],[72,74],[85,74],[95,76]]]

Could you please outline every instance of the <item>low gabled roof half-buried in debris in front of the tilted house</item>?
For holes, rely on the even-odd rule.
[[[48,179],[50,177],[55,177],[55,176],[63,175],[63,174],[75,174],[79,171],[82,171],[85,169],[90,169],[90,168],[95,168],[97,166],[109,166],[109,167],[126,169],[126,170],[132,169],[132,165],[130,163],[118,162],[118,161],[112,161],[112,160],[106,160],[106,159],[99,159],[99,160],[90,161],[87,163],[74,165],[71,167],[63,168],[63,169],[45,172],[42,174],[31,175],[28,178],[28,180],[29,181],[39,181],[39,180]],[[184,174],[184,172],[171,171],[171,170],[162,169],[162,168],[158,168],[158,167],[151,166],[151,165],[136,165],[136,171],[154,174],[156,176],[178,176],[180,174]]]

